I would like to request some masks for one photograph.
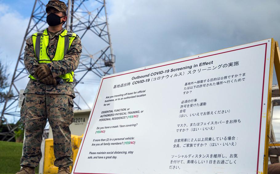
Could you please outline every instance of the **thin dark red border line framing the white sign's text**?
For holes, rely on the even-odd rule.
[[[256,47],[256,46],[260,46],[260,45],[265,45],[265,46],[266,46],[266,49],[267,49],[267,43],[258,44],[258,45],[253,45],[253,46],[250,46],[250,47]],[[187,62],[187,61],[195,60],[195,59],[201,59],[201,58],[210,57],[210,56],[213,56],[213,55],[219,55],[219,54],[228,53],[228,52],[237,51],[237,50],[242,50],[242,49],[246,49],[246,48],[250,48],[250,47],[239,48],[239,49],[235,49],[235,50],[231,50],[231,51],[225,51],[225,52],[216,53],[216,54],[207,55],[207,56],[202,56],[202,57],[198,57],[198,58],[194,58],[194,59],[183,60],[183,61],[180,61],[180,62],[169,63],[169,64],[161,65],[161,66],[155,66],[155,67],[152,67],[152,68],[147,68],[147,69],[143,69],[143,70],[133,71],[133,72],[130,72],[130,73],[125,73],[125,74],[136,73],[136,72],[145,71],[145,70],[150,70],[150,69],[154,69],[154,68],[158,68],[158,67],[162,67],[162,66],[167,66],[167,65],[172,65],[172,64],[176,64],[176,63]],[[265,59],[264,59],[264,68],[263,68],[262,102],[263,102],[263,93],[264,93],[263,90],[264,90],[265,70],[266,70],[266,50],[265,50]],[[111,77],[107,77],[107,78],[113,78],[113,77],[117,77],[117,76],[121,76],[121,75],[125,75],[125,74],[119,74],[119,75],[115,75],[115,76],[111,76]],[[96,102],[97,102],[97,99],[98,99],[98,96],[99,96],[99,92],[100,92],[100,89],[101,89],[101,86],[102,86],[102,83],[103,83],[103,80],[104,80],[104,79],[106,79],[106,78],[103,78],[102,81],[101,81],[101,85],[100,85],[100,88],[99,88],[99,91],[98,91],[98,94],[97,94],[97,98],[96,98],[96,101],[95,101],[95,103],[94,103],[93,111],[92,111],[91,116],[90,116],[90,121],[91,121],[92,114],[93,114],[93,112],[94,112],[94,108],[95,108],[95,105],[96,105]],[[259,140],[258,140],[257,174],[258,174],[258,163],[259,163],[259,152],[260,152],[260,141],[261,141],[262,105],[263,105],[263,104],[261,103],[260,129],[259,129]],[[89,125],[90,125],[90,122],[89,122]],[[88,126],[88,127],[89,127],[89,126]],[[87,127],[87,129],[86,129],[86,133],[87,133],[88,127]],[[84,137],[84,141],[85,141],[85,139],[86,139],[86,134],[85,134],[85,137]],[[81,150],[82,150],[84,141],[82,142]],[[80,153],[79,153],[79,155],[78,155],[76,165],[75,165],[75,167],[74,167],[74,174],[109,174],[109,173],[78,173],[78,172],[75,172],[75,169],[76,169],[76,166],[77,166],[77,164],[78,164],[78,160],[79,160],[79,157],[80,157],[80,154],[81,154],[81,150],[80,150]]]

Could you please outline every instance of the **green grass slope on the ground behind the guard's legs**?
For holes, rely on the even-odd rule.
[[[20,170],[20,158],[22,157],[22,145],[20,142],[0,141],[0,173],[16,173]],[[38,167],[35,172],[38,173]]]

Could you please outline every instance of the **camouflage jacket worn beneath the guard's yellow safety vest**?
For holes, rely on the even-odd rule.
[[[58,35],[64,31],[64,28],[58,33],[56,33],[54,36],[51,36],[49,34],[49,48],[48,48],[48,54],[50,56],[50,59],[54,58],[57,43],[58,43]],[[35,58],[34,54],[34,47],[33,47],[33,41],[32,36],[30,36],[26,40],[26,47],[24,52],[24,65],[26,67],[26,70],[36,79],[38,77],[34,73],[36,68],[39,66],[39,63],[37,59]],[[72,44],[70,45],[70,48],[67,52],[67,54],[64,56],[62,60],[54,61],[51,63],[48,63],[47,65],[50,67],[51,74],[54,78],[69,73],[71,71],[74,71],[77,69],[80,56],[82,52],[82,45],[80,38],[77,37],[73,40]],[[25,93],[33,93],[33,94],[39,94],[39,95],[45,95],[45,93],[53,93],[53,94],[68,94],[75,97],[73,84],[72,83],[66,83],[58,84],[56,87],[54,85],[46,85],[40,81],[33,81],[29,80],[26,89],[24,91]]]

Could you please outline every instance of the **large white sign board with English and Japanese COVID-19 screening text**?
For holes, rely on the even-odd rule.
[[[263,171],[271,39],[105,76],[72,173]]]

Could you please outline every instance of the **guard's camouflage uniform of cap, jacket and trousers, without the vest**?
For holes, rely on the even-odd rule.
[[[59,3],[59,4],[57,4]],[[48,5],[58,7],[66,12],[66,5],[57,0],[51,0]],[[46,7],[48,7],[48,5]],[[66,7],[66,8],[65,8]],[[50,60],[54,58],[58,45],[59,34],[64,31],[49,32],[49,48],[47,50]],[[47,63],[51,76],[56,78],[77,69],[82,52],[81,40],[77,36],[67,54],[62,60]],[[24,53],[26,70],[36,79],[40,79],[35,70],[40,66],[35,57],[32,36],[26,40]],[[64,81],[63,84],[45,84],[42,81],[29,80],[24,91],[25,99],[21,108],[21,119],[25,125],[25,141],[23,156],[20,165],[37,167],[42,157],[42,134],[46,126],[46,119],[50,123],[54,137],[54,165],[68,167],[73,164],[71,159],[71,132],[69,125],[73,122],[73,99],[75,97],[72,83]],[[28,173],[28,171],[27,171]]]

